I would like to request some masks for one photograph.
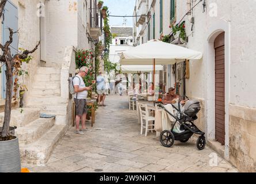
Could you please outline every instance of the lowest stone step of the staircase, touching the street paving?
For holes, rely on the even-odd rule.
[[[44,166],[67,129],[67,125],[54,125],[35,143],[20,145],[21,162]]]

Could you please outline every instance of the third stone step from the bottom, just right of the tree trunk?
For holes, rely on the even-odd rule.
[[[21,112],[22,111],[22,112]],[[5,113],[0,113],[0,126],[3,124],[3,118]],[[40,117],[40,109],[38,108],[22,108],[13,109],[11,113],[10,126],[14,127],[25,127],[30,122],[35,121]]]

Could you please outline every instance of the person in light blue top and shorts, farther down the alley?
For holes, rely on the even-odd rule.
[[[102,75],[102,72],[99,72],[97,76],[97,93],[98,93],[98,105],[105,106],[104,101],[106,98],[106,88],[105,88],[105,78]],[[102,101],[101,101],[102,98]]]

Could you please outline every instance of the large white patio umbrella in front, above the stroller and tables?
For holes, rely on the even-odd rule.
[[[155,83],[156,64],[175,64],[188,60],[200,60],[202,53],[163,41],[151,40],[121,53],[121,65],[153,65]]]

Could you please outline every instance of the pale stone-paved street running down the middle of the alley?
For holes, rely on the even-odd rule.
[[[165,148],[155,133],[140,135],[127,96],[107,96],[106,105],[97,110],[93,128],[87,122],[92,132],[75,135],[74,127],[68,130],[46,166],[22,167],[31,172],[237,172],[220,157],[217,167],[209,166],[214,151],[198,151],[196,139]]]

